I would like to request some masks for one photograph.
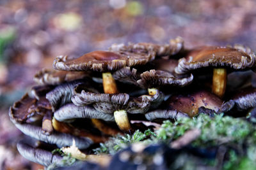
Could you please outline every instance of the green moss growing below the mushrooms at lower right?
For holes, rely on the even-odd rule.
[[[115,154],[119,150],[126,148],[132,143],[143,142],[146,145],[154,143],[170,143],[180,136],[184,135],[189,129],[200,129],[200,136],[191,143],[198,148],[207,148],[209,146],[225,146],[227,150],[227,158],[223,162],[223,169],[256,169],[256,128],[255,126],[243,118],[233,118],[228,116],[214,115],[214,118],[201,114],[196,118],[180,118],[174,123],[166,120],[156,132],[140,131],[134,132],[133,135],[125,134],[124,136],[116,136],[106,143],[101,143],[95,153]],[[230,149],[236,146],[237,150],[243,152],[235,152]],[[245,149],[244,149],[245,148]],[[191,159],[192,160],[192,159]],[[212,166],[216,160],[205,161],[207,166]],[[202,163],[201,162],[201,163]],[[188,161],[187,161],[188,163]],[[184,167],[186,164],[184,164]],[[250,166],[250,167],[249,167]]]

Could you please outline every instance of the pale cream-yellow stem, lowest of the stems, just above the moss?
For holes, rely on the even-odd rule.
[[[127,112],[125,110],[117,110],[114,112],[114,117],[116,124],[122,131],[129,131],[131,125],[127,117]]]

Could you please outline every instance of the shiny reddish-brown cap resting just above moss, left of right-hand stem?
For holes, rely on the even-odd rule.
[[[189,117],[194,117],[198,114],[200,107],[217,113],[223,101],[211,92],[200,90],[191,94],[171,96],[166,103],[168,103],[168,110],[182,111],[187,113]]]

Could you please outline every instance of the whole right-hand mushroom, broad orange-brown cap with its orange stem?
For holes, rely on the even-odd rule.
[[[225,93],[227,69],[241,71],[255,67],[255,54],[249,48],[236,45],[202,46],[189,50],[175,67],[177,74],[184,74],[202,67],[213,67],[212,92],[220,97]]]

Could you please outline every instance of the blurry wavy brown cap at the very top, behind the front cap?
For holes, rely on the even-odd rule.
[[[125,46],[124,44],[114,44],[109,50],[111,51],[125,51],[132,53],[152,53],[156,56],[173,55],[179,52],[184,46],[184,40],[180,37],[170,40],[168,45],[155,45],[152,43],[129,43]]]

